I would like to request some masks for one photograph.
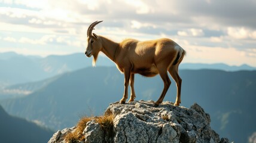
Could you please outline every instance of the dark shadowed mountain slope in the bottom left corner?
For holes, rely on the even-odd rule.
[[[8,115],[0,105],[1,142],[47,142],[53,131]]]

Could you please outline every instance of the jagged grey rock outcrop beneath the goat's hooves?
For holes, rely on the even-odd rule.
[[[102,129],[93,120],[84,130],[85,141],[81,142],[229,142],[220,139],[211,129],[210,116],[198,104],[190,108],[174,106],[164,101],[153,107],[153,101],[133,101],[126,104],[114,102],[105,114],[114,114],[114,136],[103,135]],[[70,130],[75,129],[70,128]],[[51,142],[62,142],[62,131],[54,133]]]

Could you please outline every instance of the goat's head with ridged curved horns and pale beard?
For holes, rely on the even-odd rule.
[[[93,27],[97,24],[101,23],[102,21],[95,21],[94,23],[90,24],[87,30],[87,48],[86,48],[86,56],[91,57],[93,55],[93,61],[97,60],[97,55],[99,54],[100,49],[102,48],[102,42],[99,36],[95,33],[92,33]]]

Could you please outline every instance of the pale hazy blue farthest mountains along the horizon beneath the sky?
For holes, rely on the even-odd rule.
[[[60,73],[90,66],[92,66],[92,58],[87,58],[84,53],[49,55],[42,58],[32,55],[20,55],[15,52],[4,52],[0,53],[0,86],[35,82]],[[99,56],[96,66],[115,66],[115,64],[107,57]],[[256,67],[250,67],[246,64],[242,66],[227,66],[226,64],[182,63],[179,69],[238,71],[256,70]]]

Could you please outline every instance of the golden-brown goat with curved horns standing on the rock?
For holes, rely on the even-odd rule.
[[[95,66],[99,52],[103,52],[110,60],[114,61],[118,70],[124,73],[124,94],[120,103],[124,104],[128,97],[128,85],[130,82],[130,101],[134,101],[136,95],[134,90],[134,74],[153,77],[160,74],[164,83],[163,92],[154,103],[157,107],[163,102],[164,96],[170,86],[169,71],[176,82],[177,94],[174,105],[181,103],[181,77],[178,74],[178,66],[181,63],[185,50],[171,39],[161,38],[151,41],[137,41],[135,39],[125,39],[117,43],[103,36],[92,33],[93,27],[102,21],[95,21],[90,24],[87,30],[86,56],[93,55],[93,66]]]

